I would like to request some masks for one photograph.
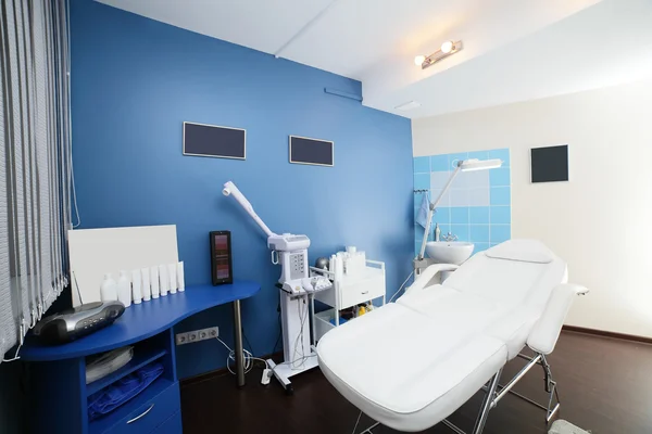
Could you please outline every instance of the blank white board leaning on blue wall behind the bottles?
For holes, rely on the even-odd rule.
[[[178,263],[176,226],[142,226],[106,229],[73,229],[67,233],[73,307],[99,302],[106,272],[133,270],[152,264]],[[79,285],[77,289],[77,284]]]

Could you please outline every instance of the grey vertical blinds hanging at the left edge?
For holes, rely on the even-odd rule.
[[[0,2],[0,355],[68,283],[68,40],[66,0]]]

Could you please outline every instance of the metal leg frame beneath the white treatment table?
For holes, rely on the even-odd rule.
[[[521,398],[534,406],[537,406],[542,410],[546,410],[546,423],[549,423],[550,420],[554,417],[554,414],[560,409],[560,405],[561,405],[560,404],[560,394],[557,392],[556,382],[554,380],[552,380],[550,365],[548,363],[546,356],[540,353],[537,353],[535,355],[535,357],[529,357],[524,354],[519,354],[518,357],[522,359],[528,360],[528,362],[525,367],[523,367],[523,369],[521,371],[518,371],[518,373],[516,373],[516,375],[514,375],[514,378],[512,380],[510,380],[510,382],[507,384],[505,384],[505,385],[499,384],[500,374],[502,373],[502,368],[501,368],[491,378],[491,380],[489,380],[489,382],[485,386],[482,386],[482,391],[485,391],[485,398],[482,399],[482,405],[480,406],[480,411],[478,413],[478,417],[476,418],[475,425],[472,431],[473,434],[480,434],[482,432],[482,430],[485,429],[485,424],[487,423],[487,418],[489,417],[489,411],[492,408],[496,408],[496,406],[498,406],[498,403],[507,393],[510,393],[514,396],[517,396],[518,398]],[[536,400],[528,398],[527,396],[524,396],[517,392],[512,391],[512,387],[514,387],[514,385],[518,381],[521,381],[521,379],[523,379],[525,376],[525,374],[530,369],[532,369],[536,365],[539,365],[541,368],[543,368],[544,388],[549,395],[548,407],[537,403]],[[554,401],[554,406],[553,406],[553,401]],[[359,417],[358,421],[360,421],[360,417]],[[466,434],[465,431],[460,429],[457,425],[455,425],[448,419],[442,420],[441,423],[443,423],[446,426],[448,426],[451,431],[455,432],[456,434]],[[372,430],[378,425],[379,425],[379,422],[376,422],[360,434],[373,434]],[[358,423],[355,423],[355,427],[358,427]],[[353,430],[353,432],[355,432],[355,429]]]

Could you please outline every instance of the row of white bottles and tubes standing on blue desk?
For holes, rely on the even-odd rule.
[[[100,286],[100,297],[102,302],[117,299],[125,307],[129,307],[131,301],[138,305],[151,298],[164,297],[167,293],[176,294],[177,291],[185,290],[184,263],[180,261],[140,268],[131,270],[130,273],[121,270],[117,282],[108,272]]]

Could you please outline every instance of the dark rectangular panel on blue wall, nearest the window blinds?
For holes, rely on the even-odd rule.
[[[184,155],[247,158],[247,130],[184,123]]]

